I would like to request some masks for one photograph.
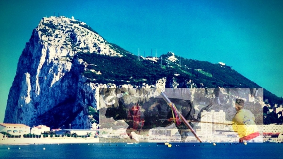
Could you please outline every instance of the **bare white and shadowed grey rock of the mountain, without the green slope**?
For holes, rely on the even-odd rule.
[[[88,64],[78,53],[122,57],[129,52],[110,44],[88,25],[66,17],[42,18],[20,56],[10,89],[4,123],[51,128],[96,128],[88,108],[99,109],[100,88],[164,89],[166,77],[154,85],[88,83],[83,72]],[[157,61],[157,58],[153,58]],[[95,66],[95,64],[92,64]],[[91,70],[103,76],[99,70]],[[95,79],[93,79],[95,81]],[[146,81],[146,80],[145,80]],[[171,84],[168,87],[175,87]]]

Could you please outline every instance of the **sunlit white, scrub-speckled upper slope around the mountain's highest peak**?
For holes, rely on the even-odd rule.
[[[48,27],[48,26],[52,27]],[[91,31],[84,22],[65,17],[43,18],[37,27],[39,36],[48,46],[55,46],[65,54],[82,51],[122,57],[105,39]],[[52,35],[52,36],[50,36]],[[70,51],[70,52],[69,52]],[[52,57],[51,57],[52,58]]]

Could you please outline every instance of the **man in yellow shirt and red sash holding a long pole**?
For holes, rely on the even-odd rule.
[[[233,117],[233,130],[239,135],[239,142],[263,142],[256,123],[254,114],[244,109],[244,100],[236,99],[235,109],[237,113]]]

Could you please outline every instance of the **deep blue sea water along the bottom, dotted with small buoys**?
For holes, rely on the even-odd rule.
[[[156,143],[0,145],[0,158],[283,158],[283,143],[171,144],[171,148]]]

